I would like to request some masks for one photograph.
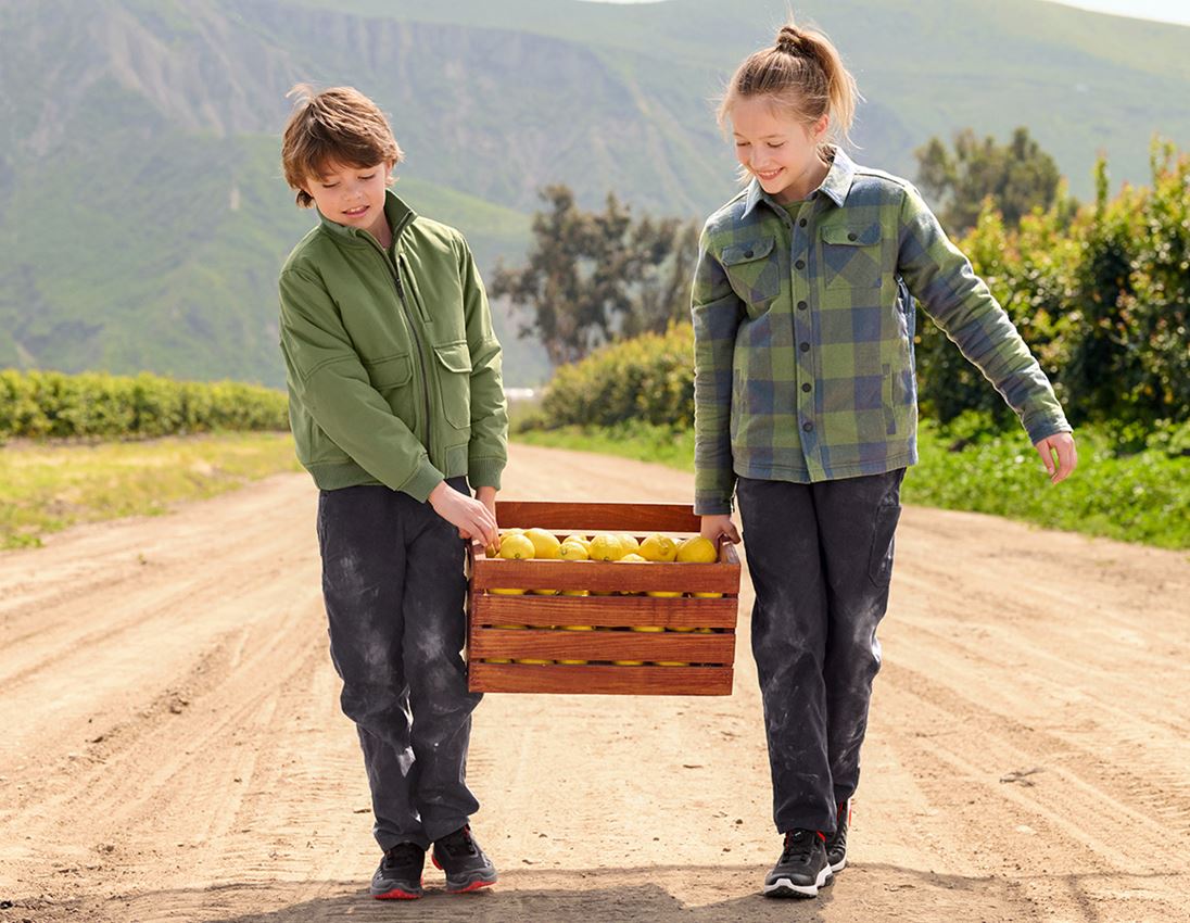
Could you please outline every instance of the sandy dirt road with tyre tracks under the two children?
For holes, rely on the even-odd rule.
[[[690,486],[516,446],[502,496]],[[757,896],[779,841],[745,588],[731,698],[488,696],[469,778],[501,885],[374,902],[314,504],[283,475],[0,555],[0,923],[1190,921],[1186,555],[919,508],[822,898]]]

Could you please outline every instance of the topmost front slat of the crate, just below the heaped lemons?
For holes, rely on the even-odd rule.
[[[738,594],[739,566],[619,561],[503,560],[480,557],[471,573],[475,589],[671,590]]]

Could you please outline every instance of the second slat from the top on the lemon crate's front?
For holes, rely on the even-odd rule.
[[[668,628],[734,628],[739,599],[657,596],[489,596],[471,602],[472,624],[653,624]]]

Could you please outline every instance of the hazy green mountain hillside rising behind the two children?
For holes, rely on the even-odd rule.
[[[913,172],[927,137],[1017,124],[1090,194],[1097,151],[1142,181],[1190,142],[1190,30],[1038,0],[812,0],[868,102],[858,159]],[[0,366],[280,385],[276,270],[312,215],[280,176],[294,82],[390,113],[399,191],[490,270],[536,190],[699,215],[732,194],[712,98],[781,0],[8,0],[0,4]],[[545,377],[496,306],[509,384]]]

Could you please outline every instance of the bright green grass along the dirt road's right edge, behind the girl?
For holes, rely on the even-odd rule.
[[[1190,458],[1159,448],[1117,456],[1102,432],[1081,428],[1076,435],[1078,469],[1054,486],[1023,432],[983,435],[962,451],[950,451],[951,437],[923,421],[921,460],[904,481],[902,500],[1120,541],[1190,548]],[[514,439],[694,470],[694,434],[665,427],[569,427],[518,433]]]

